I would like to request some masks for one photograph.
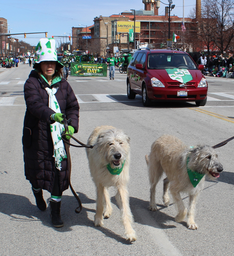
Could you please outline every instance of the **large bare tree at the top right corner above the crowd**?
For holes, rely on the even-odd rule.
[[[234,37],[234,0],[204,0],[204,3],[209,9],[207,18],[215,20],[212,23],[211,40],[223,53]]]

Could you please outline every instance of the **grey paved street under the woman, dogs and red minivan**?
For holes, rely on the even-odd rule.
[[[198,199],[198,230],[176,223],[175,206],[162,206],[162,182],[157,188],[158,212],[147,210],[149,184],[145,154],[152,142],[164,133],[176,135],[190,146],[211,146],[234,136],[234,80],[209,78],[209,98],[205,107],[194,103],[161,103],[143,107],[138,96],[126,96],[124,74],[115,80],[69,77],[80,102],[80,129],[76,138],[86,142],[92,130],[103,124],[122,128],[131,137],[130,205],[138,240],[124,240],[124,229],[110,189],[113,215],[104,227],[94,227],[95,186],[89,175],[84,149],[71,148],[72,183],[83,203],[77,207],[70,190],[62,197],[61,214],[65,226],[53,228],[49,209],[40,212],[22,159],[22,122],[25,113],[23,84],[32,68],[0,69],[0,255],[1,256],[233,256],[234,228],[234,141],[217,149],[224,172],[215,181],[206,181]],[[2,71],[4,70],[4,71]],[[48,202],[50,194],[44,191]],[[188,198],[183,195],[185,204]]]

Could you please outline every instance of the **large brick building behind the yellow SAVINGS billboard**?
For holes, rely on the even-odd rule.
[[[90,26],[92,40],[89,41],[89,51],[100,56],[106,55],[107,51],[113,52],[114,46],[118,46],[119,51],[134,49],[133,43],[128,43],[128,33],[117,32],[117,22],[134,21],[134,17],[135,22],[140,22],[140,33],[135,33],[135,40],[138,45],[153,44],[152,47],[154,48],[165,47],[168,39],[168,6],[165,7],[164,15],[158,15],[159,1],[142,0],[142,2],[145,8],[141,10],[124,11],[119,15],[110,15],[109,17],[102,15],[95,17],[94,25]],[[182,20],[181,17],[170,16],[170,38],[172,39],[173,32],[176,33],[181,37],[177,41],[177,47],[194,51],[197,19],[184,18],[187,41],[185,41],[182,31]]]

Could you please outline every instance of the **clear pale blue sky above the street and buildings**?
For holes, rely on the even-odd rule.
[[[162,0],[168,4],[168,0]],[[171,15],[183,17],[183,0],[173,0]],[[184,17],[196,6],[196,0],[184,0]],[[96,16],[110,16],[125,10],[144,9],[142,0],[8,0],[0,2],[0,17],[7,19],[10,33],[48,32],[51,36],[69,36],[72,27],[90,26]],[[161,3],[159,15],[164,15]],[[36,45],[44,34],[15,36]]]

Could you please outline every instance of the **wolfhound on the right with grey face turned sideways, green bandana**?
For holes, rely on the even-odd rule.
[[[205,175],[211,179],[219,177],[223,167],[217,159],[217,154],[211,146],[190,147],[171,135],[163,135],[151,146],[151,152],[146,155],[150,181],[150,207],[156,211],[155,188],[163,172],[163,202],[169,205],[168,189],[174,199],[178,214],[176,222],[185,219],[187,209],[183,204],[180,192],[189,194],[189,209],[187,225],[197,229],[194,220],[194,210],[199,192],[203,189]],[[199,182],[200,181],[200,182]]]

